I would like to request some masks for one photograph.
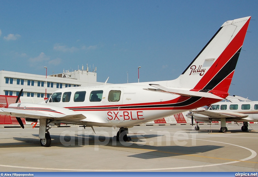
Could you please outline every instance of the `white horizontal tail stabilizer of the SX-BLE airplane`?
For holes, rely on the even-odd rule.
[[[188,97],[206,97],[206,98],[215,98],[215,99],[220,99],[220,100],[224,100],[224,98],[221,98],[217,95],[214,95],[212,93],[207,93],[207,92],[200,92],[200,91],[189,91],[189,90],[179,90],[179,89],[170,89],[170,88],[166,88],[163,87],[161,85],[157,85],[157,84],[149,84],[150,86],[156,87],[157,89],[152,89],[152,91],[161,91],[161,92],[165,92],[165,93],[172,93],[172,94],[176,94],[176,95],[181,95],[181,96],[188,96]],[[151,90],[151,89],[148,89]]]

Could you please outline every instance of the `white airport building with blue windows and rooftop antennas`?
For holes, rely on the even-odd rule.
[[[85,70],[63,71],[54,75],[37,75],[0,71],[0,95],[48,98],[54,91],[65,87],[102,85],[97,82],[97,73]],[[45,95],[46,92],[46,95]]]

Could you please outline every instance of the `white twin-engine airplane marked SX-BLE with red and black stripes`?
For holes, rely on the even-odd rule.
[[[22,128],[21,117],[39,120],[44,147],[51,123],[116,126],[117,140],[127,141],[130,127],[226,98],[250,19],[226,21],[175,80],[63,88],[38,104],[18,103],[18,95],[0,114],[15,116]]]

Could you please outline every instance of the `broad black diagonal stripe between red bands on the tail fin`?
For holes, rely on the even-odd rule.
[[[233,57],[221,68],[221,70],[212,78],[211,81],[203,88],[204,90],[212,90],[221,81],[223,81],[230,73],[236,69],[238,57],[241,48],[233,55]]]

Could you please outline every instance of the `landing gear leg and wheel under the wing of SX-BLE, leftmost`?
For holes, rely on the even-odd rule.
[[[52,127],[52,125],[49,123],[50,121],[47,119],[39,120],[39,138],[40,144],[43,147],[50,147],[51,145],[49,129]]]

